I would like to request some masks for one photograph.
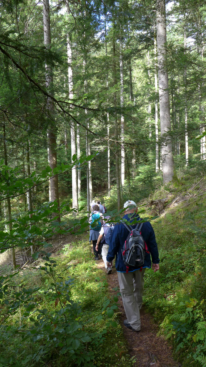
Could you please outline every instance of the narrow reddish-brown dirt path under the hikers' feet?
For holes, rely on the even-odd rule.
[[[101,259],[97,261],[98,268],[105,272],[104,262]],[[108,288],[111,293],[114,293],[113,288],[119,288],[116,269],[108,275]],[[174,361],[172,358],[172,349],[167,344],[164,337],[157,336],[158,327],[154,324],[153,317],[141,309],[141,331],[135,333],[127,329],[123,321],[126,319],[124,307],[121,297],[118,300],[119,312],[121,312],[120,323],[123,327],[124,337],[127,341],[129,353],[136,356],[134,367],[181,367],[181,364]]]

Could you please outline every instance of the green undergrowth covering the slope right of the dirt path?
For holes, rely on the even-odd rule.
[[[187,177],[180,183],[153,195],[168,197],[169,204],[153,223],[161,263],[159,272],[145,273],[144,301],[181,366],[205,367],[205,180]]]

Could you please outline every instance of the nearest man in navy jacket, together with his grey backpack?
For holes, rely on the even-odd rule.
[[[140,331],[139,310],[142,307],[145,269],[152,267],[152,270],[156,272],[159,270],[160,259],[150,222],[141,222],[134,201],[127,200],[124,208],[123,219],[130,222],[131,225],[123,222],[115,225],[106,260],[109,266],[116,256],[115,266],[127,317],[124,320],[124,326],[133,331]],[[136,223],[137,221],[140,222]]]

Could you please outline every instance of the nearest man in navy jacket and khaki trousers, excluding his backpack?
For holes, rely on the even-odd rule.
[[[130,223],[136,223],[136,221],[140,220],[140,217],[137,214],[138,208],[136,207],[134,201],[126,201],[126,203],[124,203],[124,208],[124,219]],[[134,229],[136,226],[137,224],[134,224],[132,225],[132,228]],[[128,273],[126,273],[127,269],[123,262],[121,250],[123,249],[124,242],[126,241],[128,234],[129,232],[123,224],[115,225],[110,239],[106,260],[107,266],[109,267],[116,256],[115,266],[118,274],[124,310],[127,317],[127,319],[124,320],[124,325],[134,331],[140,331],[141,322],[139,310],[142,307],[145,269],[151,268],[152,266],[152,270],[156,272],[160,268],[160,259],[154,230],[150,222],[144,222],[141,228],[141,235],[145,240],[147,248],[151,254],[152,264],[150,254],[146,253],[144,264],[141,267],[130,266]]]

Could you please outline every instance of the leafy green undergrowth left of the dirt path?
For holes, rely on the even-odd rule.
[[[1,268],[0,367],[132,366],[118,298],[109,297],[88,242],[43,260],[16,274]]]

